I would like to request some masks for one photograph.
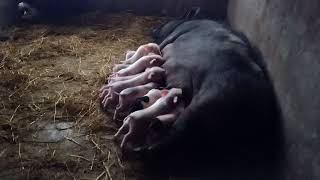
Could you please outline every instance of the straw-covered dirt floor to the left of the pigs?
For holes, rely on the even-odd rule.
[[[121,160],[98,90],[164,19],[90,14],[23,24],[0,43],[0,179],[145,179]]]

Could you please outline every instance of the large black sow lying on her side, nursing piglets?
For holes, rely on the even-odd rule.
[[[279,113],[260,52],[242,33],[196,19],[198,13],[192,9],[153,30],[166,60],[167,87],[183,89],[186,109],[150,149],[271,151],[280,139]]]

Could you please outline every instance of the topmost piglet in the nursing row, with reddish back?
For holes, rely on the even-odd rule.
[[[158,54],[161,55],[160,47],[159,45],[155,43],[149,43],[140,46],[137,51],[132,55],[130,58],[123,61],[124,64],[132,64],[136,62],[138,59],[140,59],[143,56],[148,55],[149,53]]]

